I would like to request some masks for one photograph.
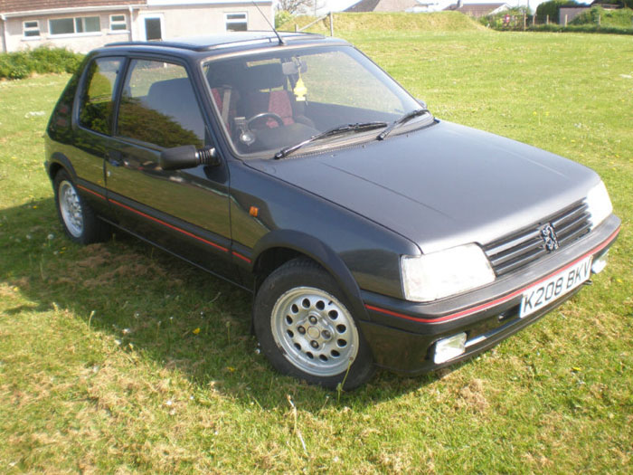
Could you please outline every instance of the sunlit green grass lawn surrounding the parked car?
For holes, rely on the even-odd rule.
[[[0,82],[0,472],[630,472],[630,38],[337,34],[440,118],[596,169],[623,221],[607,270],[453,371],[339,401],[270,368],[241,290],[125,236],[66,240],[42,134],[68,76]]]

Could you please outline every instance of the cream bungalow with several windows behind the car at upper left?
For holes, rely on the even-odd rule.
[[[89,52],[107,43],[268,30],[272,0],[3,0],[2,52],[46,44]]]

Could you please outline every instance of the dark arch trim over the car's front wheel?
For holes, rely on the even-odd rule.
[[[299,257],[316,261],[329,273],[345,294],[351,310],[366,320],[367,311],[354,276],[341,257],[325,242],[307,233],[276,230],[263,236],[253,249],[252,271],[256,276],[255,291],[263,280],[285,262]]]

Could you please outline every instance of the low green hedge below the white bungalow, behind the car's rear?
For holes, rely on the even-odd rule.
[[[24,79],[35,72],[74,72],[82,59],[83,54],[45,46],[24,52],[1,53],[0,79]]]

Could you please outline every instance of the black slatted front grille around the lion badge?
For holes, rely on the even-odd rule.
[[[484,246],[484,251],[497,276],[515,271],[549,253],[541,237],[545,223],[552,224],[560,248],[589,233],[591,226],[587,204],[582,200],[539,223],[490,242]]]

